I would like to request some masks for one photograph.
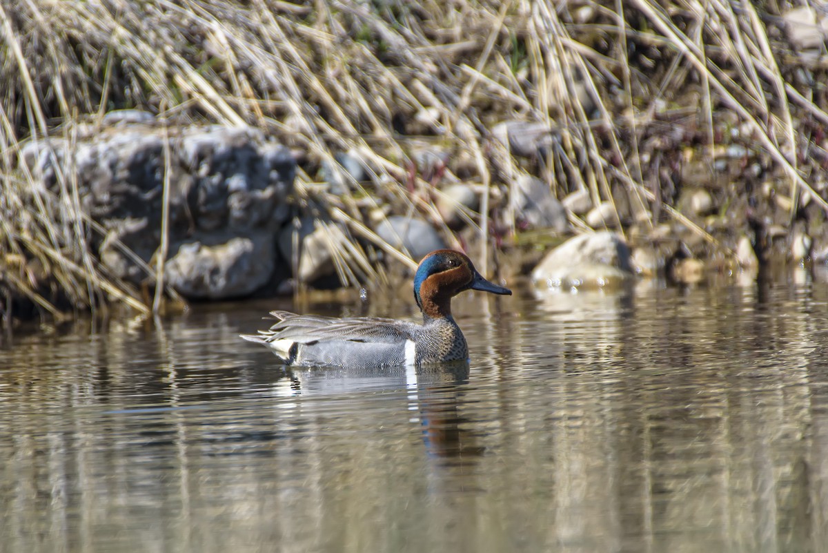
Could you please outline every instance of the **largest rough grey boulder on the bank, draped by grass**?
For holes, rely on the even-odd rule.
[[[117,127],[103,128],[75,144],[62,140],[29,142],[23,148],[22,159],[46,190],[60,187],[56,166],[65,173],[74,171],[82,209],[108,232],[93,238],[94,252],[116,276],[141,283],[147,279],[146,270],[123,254],[118,243],[144,263],[150,262],[161,243],[163,131],[128,123],[136,119],[132,115],[116,115],[113,118],[119,122]],[[289,217],[288,195],[293,189],[296,161],[286,147],[264,142],[262,133],[253,129],[213,126],[174,131],[170,132],[174,138],[169,160],[169,241],[178,245],[200,243],[204,252],[198,256],[188,248],[182,252],[200,267],[208,267],[207,258],[219,253],[225,259],[237,260],[213,263],[219,267],[216,278],[225,285],[207,286],[207,276],[181,270],[176,273],[176,286],[185,295],[194,291],[193,297],[248,294],[247,285],[241,286],[236,276],[222,271],[247,271],[244,244],[260,243],[258,236],[273,235]],[[231,245],[233,238],[241,241]],[[220,248],[222,243],[227,243],[224,250]],[[171,255],[176,251],[171,248]],[[270,267],[265,272],[273,272],[277,262],[274,256],[275,252],[267,257],[262,254],[262,270]],[[263,277],[251,274],[238,278],[262,281]],[[220,291],[223,286],[228,291]]]

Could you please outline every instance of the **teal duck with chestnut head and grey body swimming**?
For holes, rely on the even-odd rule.
[[[464,253],[440,249],[423,257],[414,274],[414,301],[422,324],[272,311],[274,325],[241,338],[267,346],[286,365],[364,368],[468,363],[469,346],[451,315],[451,298],[466,290],[512,295],[508,288],[487,281]]]

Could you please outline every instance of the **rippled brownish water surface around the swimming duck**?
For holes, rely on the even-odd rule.
[[[289,306],[4,339],[0,551],[828,551],[826,284],[467,292],[419,373],[238,339]]]

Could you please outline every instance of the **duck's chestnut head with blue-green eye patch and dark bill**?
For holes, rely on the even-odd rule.
[[[511,296],[512,291],[487,281],[469,257],[454,250],[437,250],[422,258],[414,275],[414,299],[423,315],[451,315],[451,298],[464,290]]]

